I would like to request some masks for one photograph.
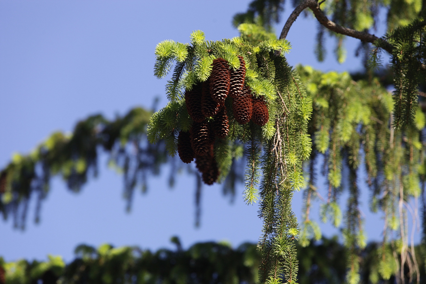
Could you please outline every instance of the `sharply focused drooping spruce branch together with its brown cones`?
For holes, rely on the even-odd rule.
[[[291,198],[304,185],[302,161],[311,153],[307,134],[311,98],[288,66],[285,40],[255,45],[243,38],[206,41],[195,31],[190,44],[158,44],[154,73],[164,78],[169,103],[148,125],[152,143],[164,140],[171,156],[195,159],[204,183],[221,183],[238,145],[245,147],[244,197],[259,201],[264,222],[259,241],[260,281],[293,283],[294,241],[299,228]]]

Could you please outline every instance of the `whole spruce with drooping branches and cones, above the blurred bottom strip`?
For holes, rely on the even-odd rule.
[[[88,169],[96,168],[97,145],[111,151],[112,163],[124,169],[128,200],[139,171],[145,173],[151,165],[158,169],[166,161],[165,151],[170,156],[178,154],[184,162],[193,160],[199,171],[196,177],[207,184],[226,183],[227,177],[235,180],[235,162],[244,152],[244,198],[249,204],[259,202],[264,224],[258,244],[262,257],[259,280],[297,281],[295,241],[306,247],[311,239],[321,238],[318,224],[310,218],[312,203],[320,199],[322,219],[336,227],[343,222],[345,281],[357,284],[365,281],[361,254],[366,249],[366,232],[357,183],[364,163],[371,209],[385,216],[383,242],[368,281],[391,277],[397,283],[424,281],[419,265],[426,255],[426,119],[419,84],[425,75],[426,4],[295,1],[295,9],[276,39],[271,24],[279,20],[283,4],[280,0],[253,1],[247,13],[234,18],[241,32],[237,38],[206,41],[203,32],[195,31],[190,43],[159,43],[155,76],[164,78],[174,64],[166,84],[167,106],[149,119],[144,110],[115,122],[93,116],[79,124],[73,136],[56,133],[31,155],[15,156],[0,174],[3,214],[12,213],[15,223],[23,224],[18,218],[25,217],[20,212],[25,212],[31,192],[38,192],[43,200],[51,174],[60,173],[69,188],[78,191],[86,182]],[[388,32],[377,38],[368,31],[383,7],[388,9]],[[345,36],[358,38],[367,80],[354,81],[346,72],[288,66],[284,54],[290,43],[285,38],[305,8],[314,13],[320,26],[318,59],[325,56],[325,28],[337,40],[339,62],[345,58]],[[381,52],[391,56],[393,94],[374,78],[374,68],[382,64]],[[134,164],[124,146],[129,141],[139,145],[144,135],[156,144],[137,146],[141,155]],[[141,162],[144,155],[153,164]],[[315,181],[320,156],[328,183],[324,197]],[[36,173],[37,165],[42,165],[42,175]],[[349,191],[345,210],[339,207],[343,180],[348,180]],[[305,212],[299,226],[291,198],[301,189]],[[423,220],[418,213],[419,199]],[[420,249],[414,247],[414,231],[408,232],[409,220],[413,228],[422,223]]]

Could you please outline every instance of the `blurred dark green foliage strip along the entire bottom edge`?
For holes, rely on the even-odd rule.
[[[196,243],[182,249],[178,238],[172,238],[176,249],[156,252],[138,247],[94,248],[79,245],[75,259],[65,264],[60,256],[49,255],[48,261],[4,262],[0,258],[0,283],[85,284],[85,283],[259,283],[261,261],[256,244],[243,243],[233,249],[227,243]],[[415,249],[419,252],[419,246]],[[296,244],[299,258],[297,278],[300,284],[345,281],[347,249],[337,239],[322,238],[309,246]],[[377,274],[380,245],[369,243],[360,259],[361,283],[386,283]],[[420,274],[425,277],[424,258]],[[394,281],[392,276],[389,283]]]

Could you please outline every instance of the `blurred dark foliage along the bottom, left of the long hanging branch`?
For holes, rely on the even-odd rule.
[[[40,275],[52,270],[56,278],[49,284],[58,279],[63,284],[257,283],[259,255],[249,243],[237,249],[221,243],[197,243],[187,250],[177,245],[176,250],[156,252],[108,244],[98,249],[80,245],[75,254],[70,264],[61,262],[60,270],[54,270],[52,261],[6,264],[6,284],[35,284],[43,277]]]

